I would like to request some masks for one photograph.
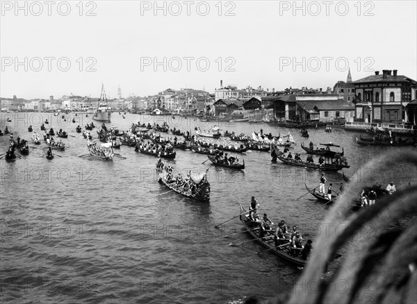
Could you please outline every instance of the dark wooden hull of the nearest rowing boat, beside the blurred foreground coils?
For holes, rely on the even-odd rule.
[[[290,246],[281,246],[276,247],[275,241],[272,235],[274,235],[274,232],[267,232],[265,234],[265,237],[268,238],[262,238],[259,237],[259,228],[261,226],[261,223],[256,221],[251,221],[249,219],[249,214],[245,208],[243,208],[242,204],[240,204],[240,221],[245,226],[247,233],[249,233],[256,241],[264,246],[267,249],[270,249],[270,252],[275,253],[275,255],[281,257],[281,259],[286,260],[287,262],[290,262],[291,264],[294,264],[296,266],[304,267],[306,265],[306,260],[302,260],[299,257],[294,257],[291,255],[291,247]],[[289,240],[288,240],[289,242]]]

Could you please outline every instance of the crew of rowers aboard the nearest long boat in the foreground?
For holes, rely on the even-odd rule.
[[[259,230],[258,236],[265,239],[266,235],[273,235],[276,248],[290,246],[290,254],[293,255],[293,257],[308,260],[309,255],[313,250],[313,242],[311,239],[304,245],[302,235],[297,230],[297,226],[294,225],[293,230],[289,231],[284,220],[279,221],[277,228],[274,230],[272,226],[274,226],[275,223],[268,218],[266,213],[263,214],[263,217],[260,217],[257,213],[257,208],[259,208],[259,203],[256,201],[255,197],[252,196],[248,220],[255,223],[255,229]]]

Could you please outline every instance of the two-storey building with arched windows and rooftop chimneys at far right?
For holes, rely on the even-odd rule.
[[[382,74],[375,71],[375,75],[352,83],[356,94],[354,121],[392,124],[409,121],[405,107],[416,99],[416,81],[398,75],[396,69],[384,69]]]

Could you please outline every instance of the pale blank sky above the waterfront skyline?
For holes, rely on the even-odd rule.
[[[1,1],[0,96],[417,80],[417,1]],[[18,6],[18,7],[17,7]]]

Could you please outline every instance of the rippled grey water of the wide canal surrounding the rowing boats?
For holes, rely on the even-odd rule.
[[[6,122],[7,117],[12,122]],[[286,134],[291,131],[297,146],[310,141],[334,142],[345,149],[350,169],[347,176],[361,178],[366,185],[386,185],[395,180],[398,188],[416,181],[416,168],[402,165],[387,168],[384,176],[360,171],[361,164],[387,151],[414,147],[381,148],[358,146],[357,133],[334,128],[309,130],[310,138],[297,130],[266,124],[206,123],[194,118],[149,117],[117,112],[112,123],[127,130],[132,123],[167,121],[171,127],[193,132],[195,126],[250,134],[251,130]],[[73,124],[72,118],[76,119]],[[239,203],[249,205],[256,196],[261,212],[277,223],[285,219],[297,224],[304,239],[317,236],[316,228],[328,207],[306,194],[304,183],[318,185],[320,171],[288,167],[270,162],[269,153],[248,151],[244,171],[213,167],[205,155],[177,151],[175,160],[165,160],[183,172],[202,173],[207,168],[211,183],[210,203],[190,201],[157,183],[156,158],[122,146],[113,162],[90,157],[86,140],[75,132],[92,115],[54,117],[47,113],[1,113],[1,130],[8,126],[13,135],[31,143],[28,125],[40,132],[63,128],[70,135],[62,139],[67,146],[56,152],[54,160],[42,155],[45,145],[35,146],[30,155],[15,162],[1,160],[1,298],[15,303],[241,303],[253,294],[270,298],[291,292],[300,270],[271,253],[256,253],[264,248],[243,232],[236,217]],[[98,124],[98,122],[95,122]],[[96,129],[91,131],[97,138]],[[162,135],[167,136],[165,133]],[[42,136],[41,136],[42,137]],[[8,135],[0,137],[6,151]],[[222,139],[223,141],[223,139]],[[33,146],[33,144],[30,144]],[[338,149],[338,148],[334,148]],[[300,150],[300,151],[299,151]],[[317,158],[316,158],[317,160]],[[355,174],[359,170],[359,174]],[[342,171],[325,173],[334,189],[343,181]],[[336,187],[335,187],[336,185]],[[296,200],[302,196],[301,199]],[[236,246],[229,246],[230,244]],[[330,266],[332,269],[332,265]]]

